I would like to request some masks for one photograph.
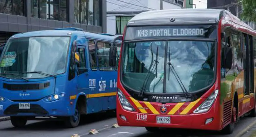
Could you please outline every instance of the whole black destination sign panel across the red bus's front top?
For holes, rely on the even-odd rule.
[[[213,25],[127,27],[125,40],[161,37],[212,37],[215,39],[216,33],[216,26]]]

